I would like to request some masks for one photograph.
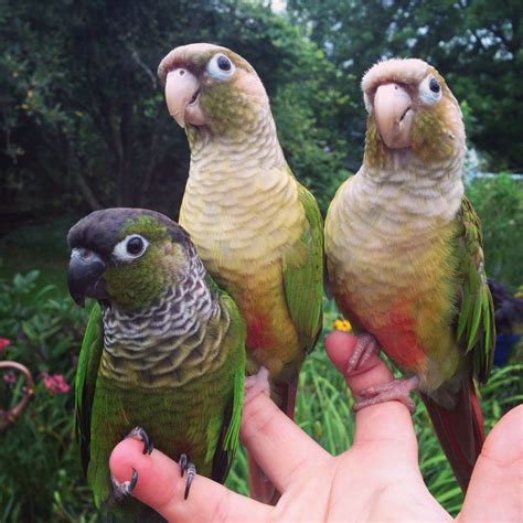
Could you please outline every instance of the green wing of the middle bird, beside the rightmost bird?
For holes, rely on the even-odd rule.
[[[298,184],[307,224],[284,255],[284,286],[290,317],[311,351],[321,332],[323,300],[323,221],[314,196]]]

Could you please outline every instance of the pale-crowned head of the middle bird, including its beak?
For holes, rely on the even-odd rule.
[[[270,114],[253,66],[233,51],[207,43],[182,45],[160,63],[170,115],[188,134],[210,129],[231,135],[254,129]]]

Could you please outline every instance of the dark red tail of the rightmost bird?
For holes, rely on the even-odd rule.
[[[444,385],[445,386],[445,385]],[[463,375],[456,403],[448,409],[421,394],[441,448],[463,493],[484,441],[483,415],[472,378]]]

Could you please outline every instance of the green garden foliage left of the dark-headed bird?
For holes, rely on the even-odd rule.
[[[76,348],[85,311],[39,273],[0,280],[0,333],[11,345],[2,360],[15,360],[36,381],[34,397],[21,418],[1,435],[1,521],[78,521],[93,513],[73,435],[73,388],[53,393],[43,376],[60,374],[73,383]],[[2,408],[20,383],[0,381]]]

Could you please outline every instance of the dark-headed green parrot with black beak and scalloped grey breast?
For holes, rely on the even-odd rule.
[[[109,521],[163,521],[110,477],[125,437],[223,482],[238,445],[246,328],[188,233],[142,209],[95,211],[67,234],[67,284],[94,305],[75,378],[76,435],[95,504]]]

